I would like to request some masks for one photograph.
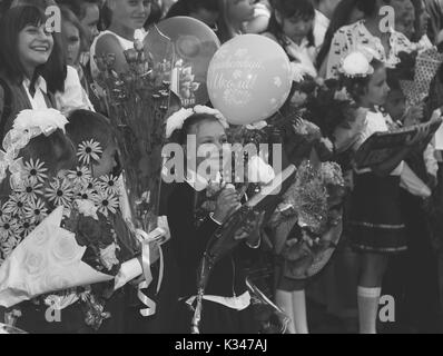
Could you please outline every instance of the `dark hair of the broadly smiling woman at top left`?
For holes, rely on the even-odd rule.
[[[47,20],[45,12],[30,6],[9,9],[0,21],[0,67],[3,75],[16,83],[24,78],[24,68],[18,51],[19,32],[27,26],[41,26]],[[46,66],[36,69],[36,78],[45,72]]]

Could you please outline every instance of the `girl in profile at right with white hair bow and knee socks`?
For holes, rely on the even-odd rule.
[[[373,134],[387,131],[393,123],[388,116],[378,110],[386,102],[390,91],[386,69],[368,53],[352,52],[345,58],[341,70],[347,91],[360,108],[367,110],[363,130],[353,147],[356,151]],[[400,176],[403,160],[426,134],[419,131],[385,162],[356,171],[350,229],[352,245],[361,254],[357,299],[362,334],[376,333],[381,286],[390,256],[407,249],[400,202]]]

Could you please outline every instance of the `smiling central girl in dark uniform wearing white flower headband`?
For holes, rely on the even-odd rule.
[[[176,118],[177,115],[171,117],[169,122],[176,121]],[[226,121],[222,119],[219,112],[194,112],[190,116],[185,113],[178,121],[180,123],[170,131],[174,131],[173,140],[181,145],[185,151],[189,135],[196,139],[197,150],[201,145],[211,144],[222,152],[223,145],[227,142],[227,135]],[[194,151],[186,154],[188,158],[196,155]],[[197,158],[197,167],[201,161],[201,158]],[[226,186],[220,190],[215,207],[198,214],[208,191],[208,180],[196,174],[195,168],[187,167],[185,171],[187,171],[186,181],[177,184],[169,196],[167,216],[173,237],[171,246],[180,271],[178,306],[180,319],[177,332],[189,333],[193,314],[188,309],[189,306],[195,306],[196,271],[209,238],[238,208],[240,197],[234,189]],[[201,216],[198,221],[197,215]],[[256,245],[257,241],[249,240],[249,246]],[[254,323],[250,308],[250,296],[240,267],[240,257],[237,251],[234,251],[224,257],[213,269],[203,301],[200,333],[253,334],[257,332],[258,327]]]

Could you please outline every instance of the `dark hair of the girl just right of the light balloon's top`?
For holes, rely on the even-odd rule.
[[[273,9],[274,11],[270,16],[267,30],[284,48],[287,43],[282,24],[278,23],[276,12],[278,12],[284,19],[299,18],[304,21],[308,21],[315,18],[315,9],[311,0],[274,0]],[[315,46],[314,29],[312,29],[307,34],[307,40],[309,46]]]

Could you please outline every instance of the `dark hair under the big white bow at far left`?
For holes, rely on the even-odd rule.
[[[61,169],[76,167],[76,150],[71,140],[61,131],[57,130],[50,136],[40,135],[20,151],[23,161],[31,158],[39,159],[48,169],[47,175],[51,178]]]

